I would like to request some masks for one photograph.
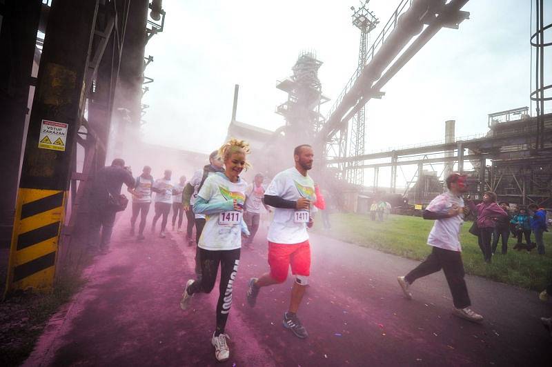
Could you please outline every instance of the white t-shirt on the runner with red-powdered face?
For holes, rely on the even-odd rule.
[[[430,212],[446,213],[451,208],[464,206],[462,197],[453,195],[450,191],[435,197],[426,207]],[[460,228],[464,223],[464,214],[454,217],[437,219],[429,232],[427,244],[445,250],[462,251],[460,246]]]

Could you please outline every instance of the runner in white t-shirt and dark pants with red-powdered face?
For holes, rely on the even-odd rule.
[[[453,173],[446,178],[447,192],[429,203],[423,212],[424,219],[433,219],[435,223],[427,244],[433,246],[431,254],[415,269],[404,277],[398,277],[399,285],[407,299],[412,299],[409,288],[416,279],[426,277],[443,269],[453,296],[453,315],[463,319],[481,322],[483,317],[471,310],[466,281],[464,281],[464,264],[462,263],[462,246],[460,246],[460,228],[468,209],[464,207],[462,193],[466,192],[466,176]]]

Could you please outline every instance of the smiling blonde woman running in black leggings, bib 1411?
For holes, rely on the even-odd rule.
[[[226,361],[230,357],[226,341],[229,338],[224,331],[232,306],[242,233],[249,235],[242,218],[247,183],[239,177],[242,170],[248,167],[248,152],[249,144],[245,141],[231,139],[221,146],[219,156],[224,159],[224,173],[217,172],[205,179],[193,206],[194,212],[206,215],[205,228],[197,244],[201,258],[201,278],[188,280],[180,307],[186,310],[195,293],[209,293],[213,290],[220,264],[217,324],[211,338],[218,361]]]

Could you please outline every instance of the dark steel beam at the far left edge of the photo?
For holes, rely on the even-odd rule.
[[[0,10],[0,247],[9,248],[41,0],[7,0]]]

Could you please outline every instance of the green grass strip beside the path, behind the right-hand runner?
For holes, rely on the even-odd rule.
[[[331,230],[322,230],[322,220],[318,218],[319,220],[315,221],[315,231],[351,244],[375,248],[408,259],[422,260],[431,251],[431,246],[427,246],[426,241],[433,221],[420,217],[390,215],[388,219],[380,222],[371,221],[369,215],[345,213],[335,213],[330,215],[330,218]],[[468,232],[470,225],[471,223],[464,224],[460,234],[462,260],[466,272],[532,290],[543,290],[552,280],[551,232],[544,232],[544,246],[547,252],[544,256],[538,255],[536,248],[531,252],[512,250],[516,241],[510,237],[508,253],[499,253],[499,242],[493,262],[486,264],[477,246],[477,237]],[[531,239],[534,241],[534,236]]]

